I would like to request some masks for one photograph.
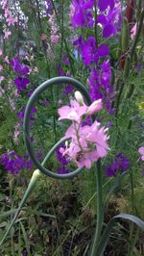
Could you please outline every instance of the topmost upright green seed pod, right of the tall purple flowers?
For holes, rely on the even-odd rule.
[[[130,38],[130,27],[128,23],[128,19],[124,18],[123,23],[123,31],[122,31],[122,51],[126,51],[129,46],[129,38]]]

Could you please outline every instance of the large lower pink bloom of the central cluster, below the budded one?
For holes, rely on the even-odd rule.
[[[78,130],[79,129],[79,130]],[[65,133],[65,138],[71,138],[69,146],[62,152],[63,155],[77,164],[79,167],[90,168],[93,162],[108,154],[107,129],[100,127],[95,121],[91,126],[80,127],[77,124],[70,125]],[[77,134],[79,133],[79,139]]]

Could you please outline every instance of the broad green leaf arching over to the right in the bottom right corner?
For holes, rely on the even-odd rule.
[[[98,246],[98,251],[97,251],[97,256],[103,256],[105,248],[108,244],[108,239],[111,233],[111,230],[113,226],[115,225],[115,222],[117,221],[118,218],[124,218],[127,220],[131,220],[133,223],[135,223],[138,227],[140,227],[142,230],[144,230],[144,221],[141,220],[140,218],[137,218],[132,215],[127,215],[127,214],[120,214],[118,216],[115,216],[111,218],[108,222],[108,225],[102,235],[101,241]]]

